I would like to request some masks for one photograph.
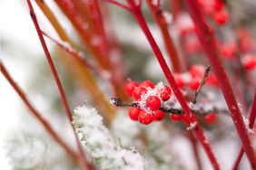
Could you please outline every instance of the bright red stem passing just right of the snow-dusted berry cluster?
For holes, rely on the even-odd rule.
[[[127,0],[128,3],[130,4],[131,8],[132,8],[132,13],[134,18],[137,20],[138,24],[141,26],[143,33],[145,34],[148,42],[150,43],[153,52],[155,54],[155,57],[157,58],[160,66],[162,67],[162,71],[166,77],[166,79],[168,80],[173,93],[175,94],[176,98],[178,99],[178,101],[180,102],[182,109],[184,110],[185,114],[187,114],[189,116],[190,119],[190,123],[192,124],[196,124],[197,126],[193,129],[194,133],[196,135],[196,137],[198,137],[198,139],[200,140],[200,142],[202,143],[203,148],[205,149],[205,152],[207,154],[207,156],[209,157],[212,166],[214,167],[214,169],[220,169],[217,160],[215,158],[215,156],[212,153],[212,148],[209,145],[208,140],[206,139],[206,137],[204,137],[203,131],[202,131],[202,127],[198,124],[195,116],[192,114],[191,109],[189,108],[186,100],[182,97],[182,91],[178,88],[173,76],[172,76],[172,72],[170,71],[166,61],[163,58],[162,52],[160,51],[157,43],[154,41],[153,39],[153,35],[149,30],[149,27],[143,17],[143,14],[141,13],[141,11],[133,4],[133,0]]]

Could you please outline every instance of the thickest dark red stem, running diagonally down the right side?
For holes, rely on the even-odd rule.
[[[211,62],[212,69],[220,82],[222,93],[231,112],[231,118],[233,119],[238,134],[241,137],[242,146],[245,149],[246,155],[249,158],[252,168],[256,168],[256,159],[251,146],[251,140],[242,120],[238,103],[231,89],[230,80],[224,71],[222,61],[219,59],[219,56],[216,53],[216,47],[214,43],[215,39],[211,29],[204,22],[202,13],[199,9],[199,5],[197,5],[194,0],[185,0],[185,3],[189,13],[192,16],[192,21],[196,25],[199,40],[202,43],[203,49],[206,52],[209,61]]]

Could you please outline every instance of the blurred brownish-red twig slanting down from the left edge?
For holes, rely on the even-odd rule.
[[[34,109],[34,106],[31,104],[31,102],[26,98],[25,92],[21,90],[18,85],[15,83],[15,80],[11,77],[9,72],[5,69],[5,65],[2,61],[0,61],[0,71],[5,76],[5,79],[9,81],[11,86],[14,88],[14,90],[18,93],[20,98],[25,102],[25,105],[28,109],[30,109],[31,113],[34,115],[36,119],[43,125],[45,130],[54,138],[54,140],[64,148],[65,152],[68,154],[68,156],[71,156],[74,161],[79,161],[79,157],[77,154],[70,148],[70,146],[66,145],[64,140],[58,136],[58,134],[54,131],[54,128],[50,125],[50,123],[45,120],[41,114]]]

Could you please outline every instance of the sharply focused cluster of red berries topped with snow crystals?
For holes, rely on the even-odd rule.
[[[151,80],[145,80],[140,84],[130,80],[125,85],[125,92],[133,97],[138,108],[129,109],[129,117],[135,121],[140,121],[148,125],[153,120],[159,121],[164,118],[164,112],[161,110],[162,102],[167,101],[172,96],[172,90],[162,83],[154,85]]]

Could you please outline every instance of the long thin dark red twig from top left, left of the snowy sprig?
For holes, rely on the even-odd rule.
[[[39,37],[39,40],[40,40],[40,42],[41,42],[41,44],[42,44],[45,57],[46,57],[46,59],[47,59],[47,61],[48,61],[48,64],[49,64],[49,66],[50,66],[50,68],[51,68],[51,71],[52,71],[52,73],[53,73],[53,75],[54,75],[54,80],[55,80],[55,83],[56,83],[57,88],[58,88],[58,90],[59,90],[59,93],[60,93],[60,96],[61,96],[61,99],[62,99],[62,102],[63,102],[63,105],[64,105],[65,112],[66,112],[67,117],[68,117],[68,119],[69,119],[69,121],[70,121],[70,124],[71,124],[71,126],[72,126],[72,128],[73,128],[74,137],[75,137],[75,140],[76,140],[76,145],[78,146],[79,155],[81,156],[81,157],[80,157],[80,163],[81,163],[81,165],[82,165],[82,167],[83,167],[84,169],[92,169],[92,168],[91,168],[91,165],[89,165],[89,163],[87,162],[87,159],[86,159],[86,157],[85,157],[85,155],[84,155],[83,146],[81,145],[80,140],[78,139],[78,137],[77,137],[76,134],[75,134],[74,126],[73,126],[73,124],[72,124],[72,120],[73,120],[73,118],[72,118],[72,112],[71,112],[71,109],[69,108],[68,103],[67,103],[67,100],[66,100],[66,98],[65,98],[64,89],[63,89],[63,87],[62,87],[61,80],[59,79],[58,73],[57,73],[57,71],[56,71],[56,69],[55,69],[55,67],[54,67],[54,61],[52,60],[52,57],[51,57],[51,55],[50,55],[50,52],[49,52],[49,50],[48,50],[48,48],[47,48],[47,45],[46,45],[46,43],[45,43],[45,41],[44,41],[43,33],[41,32],[40,26],[39,26],[39,24],[38,24],[38,22],[37,22],[37,19],[36,19],[35,14],[34,14],[33,5],[31,4],[31,1],[30,1],[30,0],[26,0],[26,2],[27,2],[27,5],[28,5],[28,7],[29,7],[29,10],[30,10],[30,15],[31,15],[31,18],[32,18],[33,23],[34,23],[35,30],[36,30],[36,32],[37,32],[37,34],[38,34],[38,37]]]

